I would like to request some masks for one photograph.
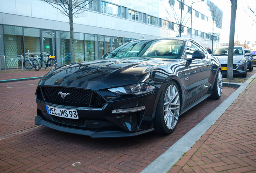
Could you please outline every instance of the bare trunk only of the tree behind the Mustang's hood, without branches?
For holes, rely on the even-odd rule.
[[[75,62],[74,57],[74,24],[73,24],[73,10],[72,10],[72,0],[69,0],[68,4],[68,16],[69,16],[69,26],[70,26],[70,60],[71,63]]]

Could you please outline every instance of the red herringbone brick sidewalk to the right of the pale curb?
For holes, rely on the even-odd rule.
[[[169,173],[256,173],[256,78]]]

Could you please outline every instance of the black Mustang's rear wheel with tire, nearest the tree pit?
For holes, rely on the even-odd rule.
[[[223,88],[222,73],[221,73],[221,70],[219,69],[213,84],[213,92],[211,95],[211,99],[216,99],[216,100],[219,99],[222,94],[222,88]]]

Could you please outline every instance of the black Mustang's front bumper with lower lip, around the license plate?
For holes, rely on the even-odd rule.
[[[37,117],[35,118],[35,124],[90,137],[128,137],[148,133],[154,130],[155,103],[158,92],[159,89],[156,88],[152,93],[138,97],[121,96],[114,101],[107,102],[102,108],[54,105],[36,99]],[[76,109],[79,119],[73,120],[50,115],[46,111],[46,105],[60,109]],[[111,113],[115,109],[141,106],[145,106],[145,110],[130,113]]]

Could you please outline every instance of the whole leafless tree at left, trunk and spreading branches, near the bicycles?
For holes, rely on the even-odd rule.
[[[75,61],[74,57],[74,23],[73,17],[79,17],[85,11],[85,7],[93,0],[44,0],[54,8],[60,10],[62,14],[68,16],[70,26],[70,60]]]

